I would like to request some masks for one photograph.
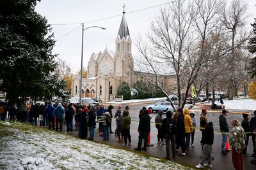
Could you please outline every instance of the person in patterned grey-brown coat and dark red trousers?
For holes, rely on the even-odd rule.
[[[243,170],[243,149],[246,146],[246,136],[238,120],[233,119],[231,125],[233,128],[230,132],[229,143],[232,146],[233,166],[236,170]]]

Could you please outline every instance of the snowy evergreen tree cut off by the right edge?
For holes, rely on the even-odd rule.
[[[248,50],[251,53],[256,53],[256,18],[255,22],[251,25],[253,27],[254,36],[249,41]],[[251,66],[249,68],[248,73],[251,73],[253,78],[254,76],[256,76],[256,57],[254,57],[250,63]]]

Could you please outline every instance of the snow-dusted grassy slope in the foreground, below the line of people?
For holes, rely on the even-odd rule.
[[[18,122],[0,122],[0,169],[190,169]]]

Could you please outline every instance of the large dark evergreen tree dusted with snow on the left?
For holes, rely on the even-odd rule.
[[[52,55],[55,41],[46,18],[36,13],[36,3],[36,0],[0,3],[0,80],[3,81],[0,90],[7,92],[10,102],[19,97],[39,99],[54,95],[63,84],[51,74],[56,67],[56,55]]]

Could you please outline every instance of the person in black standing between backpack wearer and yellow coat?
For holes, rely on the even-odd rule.
[[[184,126],[184,115],[183,110],[179,108],[176,111],[177,117],[177,143],[176,143],[176,151],[179,152],[179,147],[181,147],[182,153],[179,156],[185,156],[185,126]]]

